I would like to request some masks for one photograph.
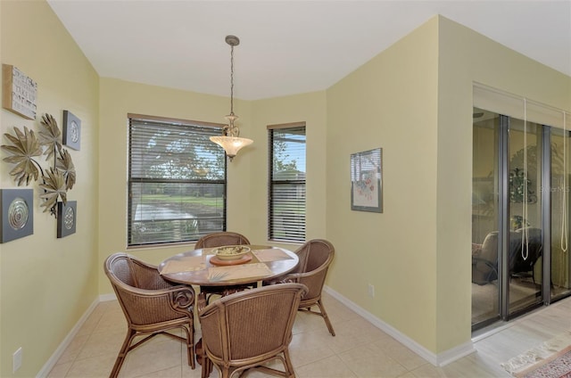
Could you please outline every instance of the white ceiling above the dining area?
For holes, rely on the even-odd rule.
[[[326,89],[435,14],[571,76],[571,0],[47,0],[104,78],[256,100]]]

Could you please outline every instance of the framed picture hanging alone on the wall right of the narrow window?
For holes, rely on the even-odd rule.
[[[351,154],[351,210],[383,212],[382,149]]]

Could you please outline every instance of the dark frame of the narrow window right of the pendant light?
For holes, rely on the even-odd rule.
[[[303,141],[304,144],[304,171],[303,171],[303,179],[275,179],[275,172],[274,172],[274,132],[275,131],[285,131],[287,129],[299,129],[303,128],[303,136],[305,139]],[[305,122],[292,122],[292,123],[285,123],[285,124],[277,124],[277,125],[269,125],[268,129],[268,144],[269,144],[269,154],[268,154],[268,239],[272,242],[306,242],[307,235],[307,125]],[[303,185],[303,216],[295,217],[293,219],[287,220],[293,226],[301,226],[302,233],[295,233],[285,236],[287,234],[287,227],[282,224],[281,227],[277,226],[277,214],[274,206],[274,199],[272,193],[277,186],[282,185]],[[282,218],[282,222],[285,219]],[[280,235],[281,234],[281,235]]]

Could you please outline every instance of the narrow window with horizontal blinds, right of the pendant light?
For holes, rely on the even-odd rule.
[[[269,126],[269,239],[305,241],[305,123]]]

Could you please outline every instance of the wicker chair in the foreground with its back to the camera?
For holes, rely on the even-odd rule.
[[[203,377],[212,364],[228,378],[255,368],[263,373],[295,377],[289,356],[292,327],[303,284],[277,284],[236,292],[206,305],[199,295],[198,316],[203,332]],[[282,372],[262,364],[279,359]]]

